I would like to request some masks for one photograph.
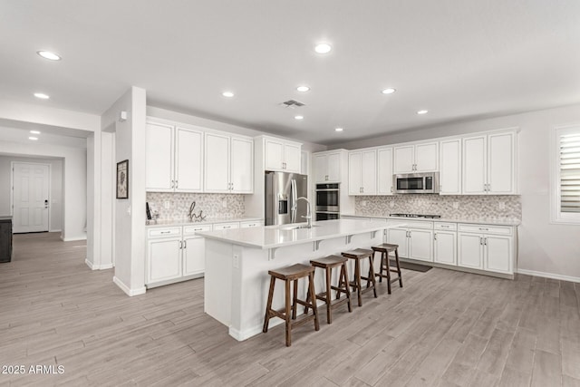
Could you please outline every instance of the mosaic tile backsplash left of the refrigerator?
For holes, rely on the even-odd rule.
[[[160,220],[185,220],[188,218],[191,202],[196,202],[194,212],[210,218],[242,218],[244,216],[244,195],[148,192],[147,201],[153,211],[158,211]],[[169,202],[169,208],[165,203]]]

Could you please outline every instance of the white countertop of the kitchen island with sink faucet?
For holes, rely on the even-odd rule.
[[[404,221],[401,220],[401,225],[403,224]],[[233,245],[267,249],[299,245],[316,240],[331,239],[333,237],[346,237],[401,226],[387,225],[384,221],[372,219],[336,219],[314,222],[314,226],[316,227],[312,228],[288,229],[289,227],[300,225],[305,225],[305,223],[203,231],[198,232],[197,235],[222,242],[229,242]]]

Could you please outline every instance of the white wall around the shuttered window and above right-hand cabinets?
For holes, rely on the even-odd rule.
[[[357,149],[518,127],[518,181],[522,223],[518,227],[518,271],[580,282],[580,226],[550,223],[550,134],[556,126],[580,123],[580,105],[488,120],[440,125],[421,131],[333,145]]]

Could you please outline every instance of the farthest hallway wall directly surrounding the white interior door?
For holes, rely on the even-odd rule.
[[[49,231],[61,231],[61,219],[63,218],[63,160],[0,156],[0,214],[2,215],[10,215],[12,212],[10,190],[12,187],[11,172],[13,161],[35,162],[51,166]]]

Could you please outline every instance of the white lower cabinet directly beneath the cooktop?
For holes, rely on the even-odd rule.
[[[387,223],[401,223],[388,220]],[[399,256],[433,261],[433,222],[406,221],[407,227],[387,229],[387,242],[399,245]]]

